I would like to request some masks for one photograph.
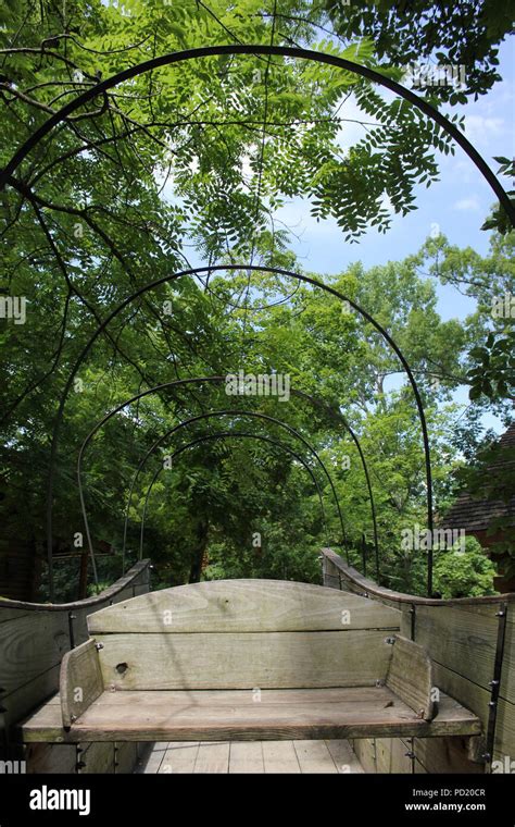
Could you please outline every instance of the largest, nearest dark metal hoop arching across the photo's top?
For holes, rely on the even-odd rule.
[[[325,54],[312,49],[300,49],[290,46],[254,46],[247,44],[204,46],[198,49],[187,49],[180,52],[162,54],[159,58],[152,58],[151,60],[143,61],[136,66],[125,69],[122,72],[118,72],[117,74],[105,78],[105,81],[101,81],[99,84],[97,84],[97,86],[84,91],[81,95],[75,98],[75,100],[72,100],[70,103],[66,103],[64,107],[62,107],[58,112],[55,112],[55,114],[51,115],[38,129],[36,129],[36,132],[20,147],[17,152],[15,152],[2,173],[0,173],[0,189],[4,187],[5,184],[13,183],[11,180],[12,174],[15,172],[24,158],[41,140],[41,138],[48,135],[48,133],[51,132],[51,129],[56,126],[56,124],[65,121],[68,115],[75,112],[75,110],[79,109],[85,103],[88,103],[90,100],[93,100],[99,95],[103,95],[105,91],[108,91],[108,89],[111,89],[113,86],[116,86],[124,81],[129,81],[131,77],[137,77],[138,75],[145,74],[145,72],[150,72],[151,70],[158,69],[159,66],[172,65],[174,63],[184,63],[187,60],[194,60],[199,58],[218,57],[222,54],[264,54],[266,57],[277,55],[282,58],[311,60],[315,63],[325,63],[327,65],[344,70],[346,72],[352,72],[353,74],[361,75],[362,77],[365,77],[373,83],[385,86],[387,89],[390,89],[395,95],[399,95],[401,98],[404,98],[404,100],[407,100],[410,103],[413,103],[415,107],[417,107],[417,109],[428,115],[428,118],[438,123],[438,125],[441,126],[442,129],[447,132],[456,141],[456,144],[461,146],[461,148],[467,153],[481,175],[491,186],[502,206],[506,210],[512,224],[515,225],[515,207],[512,205],[507,193],[501,186],[491,169],[481,158],[479,152],[473,147],[469,140],[467,140],[467,138],[465,138],[465,136],[456,128],[456,126],[454,126],[454,124],[451,123],[451,121],[442,115],[437,109],[431,107],[429,103],[427,103],[427,101],[425,101],[423,98],[419,98],[418,95],[415,95],[410,89],[405,89],[401,84],[398,84],[395,81],[391,81],[389,77],[385,77],[373,69],[368,69],[368,66],[362,66],[359,63],[346,60],[344,58],[339,58],[335,54]]]

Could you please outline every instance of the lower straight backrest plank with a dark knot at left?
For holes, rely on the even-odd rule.
[[[382,631],[98,634],[105,687],[271,689],[373,686],[391,646]],[[366,652],[366,657],[363,653]]]

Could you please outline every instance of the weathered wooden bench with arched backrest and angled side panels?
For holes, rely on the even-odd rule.
[[[88,618],[26,742],[475,736],[400,613],[332,589],[197,583]]]

